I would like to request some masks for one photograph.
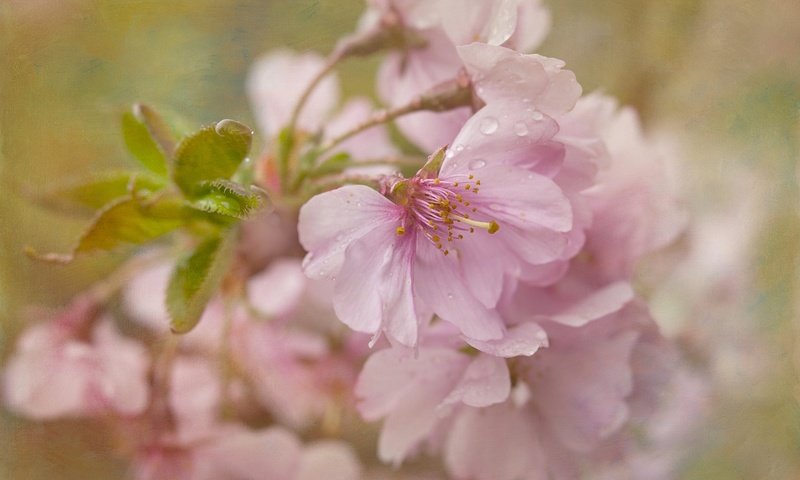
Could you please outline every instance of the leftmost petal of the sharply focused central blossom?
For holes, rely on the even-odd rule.
[[[317,195],[300,209],[300,243],[310,252],[303,260],[312,278],[335,276],[345,249],[376,226],[398,222],[401,210],[375,190],[348,185]]]

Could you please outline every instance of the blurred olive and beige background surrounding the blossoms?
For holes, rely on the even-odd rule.
[[[643,265],[657,320],[709,374],[708,426],[686,479],[800,478],[800,2],[559,0],[539,53],[585,92],[635,106],[674,152],[692,221]],[[0,2],[0,358],[23,309],[57,306],[116,256],[68,267],[24,245],[66,251],[84,218],[33,205],[38,191],[128,164],[122,110],[136,101],[199,125],[253,125],[249,65],[275,47],[327,53],[353,29],[358,0],[2,0]],[[340,69],[345,93],[371,91],[376,60]],[[256,147],[258,148],[258,147]],[[86,422],[0,414],[0,478],[118,478]]]

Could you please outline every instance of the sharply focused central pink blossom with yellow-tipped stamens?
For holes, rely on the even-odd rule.
[[[559,258],[572,227],[569,202],[552,180],[514,165],[554,129],[521,116],[530,136],[509,134],[513,114],[501,124],[482,110],[438,173],[426,167],[396,179],[388,196],[345,186],[303,206],[305,271],[335,280],[334,308],[344,323],[414,345],[432,311],[468,338],[503,337],[492,310],[503,276]]]

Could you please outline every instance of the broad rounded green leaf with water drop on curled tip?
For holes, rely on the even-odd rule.
[[[250,151],[253,132],[234,120],[222,120],[181,141],[172,178],[189,198],[203,194],[203,182],[230,178]]]

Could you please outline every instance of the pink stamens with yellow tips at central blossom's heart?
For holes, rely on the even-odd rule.
[[[414,177],[407,182],[403,186],[407,216],[403,225],[397,227],[398,235],[404,235],[409,223],[413,223],[447,255],[454,242],[475,233],[476,228],[490,234],[500,229],[480,208],[481,181],[474,175],[456,175],[447,180]]]

